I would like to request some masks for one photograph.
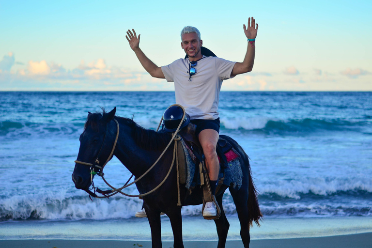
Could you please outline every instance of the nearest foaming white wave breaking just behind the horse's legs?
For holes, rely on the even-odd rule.
[[[321,181],[279,182],[258,186],[263,214],[276,217],[372,216],[372,179],[357,182]],[[126,219],[134,217],[142,204],[137,198],[119,196],[91,201],[85,192],[79,194],[50,192],[3,197],[0,199],[0,220]],[[225,192],[223,207],[227,215],[236,214],[228,190]],[[201,205],[185,206],[182,214],[200,216],[201,211]]]

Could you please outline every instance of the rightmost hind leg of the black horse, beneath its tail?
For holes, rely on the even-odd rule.
[[[236,212],[240,221],[240,236],[243,241],[244,248],[249,248],[249,215],[248,215],[248,181],[243,177],[242,186],[239,189],[234,189],[230,186],[230,193],[235,203]]]

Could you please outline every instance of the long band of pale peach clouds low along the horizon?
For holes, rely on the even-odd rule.
[[[54,91],[172,91],[173,83],[152,78],[145,70],[130,70],[109,65],[104,59],[77,62],[65,69],[57,62],[29,61],[17,65],[13,53],[0,61],[0,89]],[[13,66],[13,67],[12,67]],[[11,70],[12,69],[12,70]],[[223,84],[226,91],[287,91],[287,90],[368,90],[372,73],[362,69],[327,72],[318,68],[299,73],[292,66],[282,73],[251,72],[229,79]],[[367,75],[368,74],[368,75]],[[290,76],[288,76],[290,75]],[[363,76],[360,82],[354,78]],[[346,77],[345,77],[346,76]],[[353,83],[354,81],[354,83]]]

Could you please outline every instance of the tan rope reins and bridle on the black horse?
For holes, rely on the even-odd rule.
[[[174,104],[174,105],[172,105],[172,106],[179,106],[179,107],[182,108],[182,110],[184,111],[184,115],[183,115],[183,117],[182,117],[182,120],[184,120],[184,118],[185,118],[185,116],[186,116],[186,111],[185,111],[184,107],[182,107],[182,106],[179,105],[179,104]],[[159,123],[159,125],[157,126],[157,129],[156,129],[156,132],[159,130],[159,127],[160,127],[160,124],[161,124],[162,120],[163,120],[163,118],[160,120],[160,123]],[[165,152],[167,151],[167,149],[170,147],[172,141],[173,141],[173,140],[176,140],[176,141],[181,140],[180,136],[178,135],[178,132],[179,132],[179,130],[180,130],[180,127],[181,127],[183,121],[180,122],[180,124],[178,125],[176,131],[172,134],[172,138],[171,138],[171,140],[169,141],[168,145],[166,146],[166,148],[164,149],[164,151],[161,153],[161,155],[159,155],[159,157],[156,159],[156,161],[154,162],[154,164],[153,164],[153,165],[152,165],[152,166],[151,166],[151,167],[150,167],[146,172],[144,172],[144,173],[143,173],[139,178],[137,178],[136,180],[134,180],[132,183],[128,184],[128,182],[129,182],[129,181],[132,179],[132,177],[133,177],[133,174],[132,174],[132,176],[128,179],[128,181],[124,184],[124,186],[122,186],[122,187],[120,187],[120,188],[115,188],[115,187],[111,186],[111,185],[106,181],[106,179],[105,179],[105,177],[104,177],[105,174],[103,173],[103,168],[104,168],[104,167],[106,166],[106,164],[111,160],[112,155],[113,155],[113,153],[114,153],[114,151],[115,151],[116,143],[117,143],[118,138],[119,138],[119,123],[118,123],[118,121],[116,121],[115,119],[114,119],[114,121],[116,122],[116,125],[117,125],[116,138],[115,138],[115,142],[114,142],[114,144],[113,144],[113,146],[112,146],[111,153],[110,153],[108,159],[106,160],[105,164],[104,164],[103,166],[99,166],[99,165],[97,165],[97,164],[99,164],[98,156],[100,155],[101,150],[102,150],[102,148],[103,148],[103,145],[104,145],[104,143],[105,143],[106,133],[107,133],[107,125],[106,125],[106,132],[105,132],[105,136],[104,136],[104,139],[103,139],[103,143],[102,143],[101,149],[100,149],[99,152],[98,152],[98,155],[97,155],[97,157],[96,157],[96,159],[95,159],[94,164],[92,164],[92,163],[86,163],[86,162],[82,162],[82,161],[75,160],[75,163],[78,163],[78,164],[81,164],[81,165],[86,165],[86,166],[91,166],[91,183],[92,183],[92,186],[93,186],[94,193],[93,193],[92,191],[90,191],[89,189],[86,189],[85,191],[86,191],[90,196],[93,196],[94,198],[109,198],[109,197],[111,197],[111,196],[113,196],[113,195],[116,195],[117,193],[121,193],[121,194],[123,194],[123,195],[125,195],[125,196],[128,196],[128,197],[143,197],[143,196],[146,196],[146,195],[149,195],[149,194],[153,193],[156,189],[158,189],[160,186],[162,186],[162,185],[164,184],[164,182],[167,180],[168,176],[171,174],[171,170],[172,170],[172,168],[173,168],[173,164],[174,164],[174,161],[175,161],[175,160],[177,161],[177,164],[178,164],[178,155],[177,155],[177,149],[178,149],[178,148],[177,148],[177,142],[174,142],[174,146],[173,146],[173,159],[172,159],[172,162],[171,162],[171,167],[170,167],[170,169],[169,169],[167,175],[166,175],[165,178],[163,179],[163,181],[162,181],[158,186],[156,186],[154,189],[152,189],[152,190],[150,190],[150,191],[148,191],[148,192],[146,192],[146,193],[144,193],[144,194],[139,194],[139,195],[129,195],[129,194],[126,194],[126,193],[122,192],[121,190],[124,189],[124,188],[126,188],[126,187],[129,187],[129,186],[131,186],[131,185],[133,185],[133,184],[135,184],[135,183],[137,183],[138,181],[140,181],[140,179],[142,179],[142,178],[143,178],[143,177],[144,177],[144,176],[145,176],[149,171],[151,171],[151,170],[155,167],[155,165],[157,164],[157,162],[159,162],[160,158],[165,154]],[[98,172],[95,172],[95,171],[94,171],[95,168],[98,168]],[[178,166],[177,166],[177,173],[178,173]],[[106,183],[110,188],[112,188],[112,189],[111,189],[111,190],[105,190],[105,191],[103,191],[103,190],[101,190],[101,189],[95,187],[95,186],[94,186],[94,183],[93,183],[93,175],[95,175],[95,174],[98,174],[100,177],[102,177],[102,180],[103,180],[103,181],[104,181],[104,182],[105,182],[105,183]],[[179,191],[179,189],[178,189],[178,191]],[[98,192],[98,193],[100,193],[100,194],[102,194],[102,195],[104,195],[104,196],[97,196],[97,195],[95,194],[95,192]],[[181,203],[180,203],[180,199],[179,199],[178,202],[179,202],[179,204],[181,204]]]

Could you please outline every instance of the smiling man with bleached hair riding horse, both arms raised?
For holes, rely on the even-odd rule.
[[[212,194],[218,182],[219,163],[216,146],[219,133],[218,99],[224,79],[250,72],[255,55],[255,38],[258,24],[248,18],[248,27],[243,25],[248,39],[247,52],[243,62],[231,62],[217,57],[205,57],[201,53],[203,41],[200,32],[187,26],[181,31],[181,47],[188,58],[179,59],[169,65],[158,67],[140,49],[140,34],[128,30],[125,36],[136,53],[143,68],[154,78],[166,78],[174,82],[176,103],[182,105],[190,115],[191,123],[197,125],[196,134],[205,155]],[[203,217],[217,215],[214,202],[207,202]]]

